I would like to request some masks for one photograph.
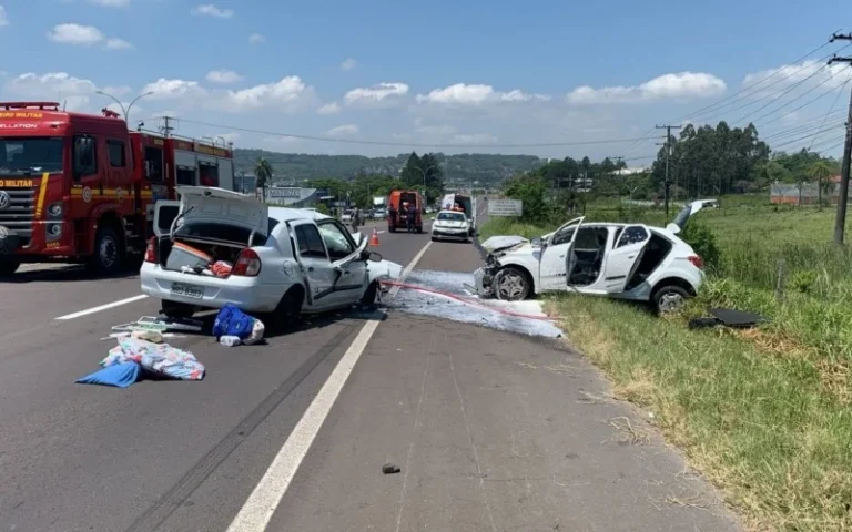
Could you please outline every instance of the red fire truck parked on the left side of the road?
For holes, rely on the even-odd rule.
[[[106,109],[0,102],[0,276],[45,262],[115,273],[144,253],[154,203],[174,200],[175,185],[233,190],[233,151],[130,132]]]

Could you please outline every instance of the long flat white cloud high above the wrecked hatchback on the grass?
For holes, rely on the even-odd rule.
[[[578,86],[567,101],[575,104],[641,103],[663,99],[709,98],[724,93],[727,85],[719,78],[703,72],[663,74],[640,85]]]

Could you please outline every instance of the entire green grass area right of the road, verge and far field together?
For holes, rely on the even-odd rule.
[[[775,209],[748,197],[722,205],[696,217],[720,257],[682,316],[661,319],[582,296],[549,305],[570,341],[612,378],[616,395],[653,412],[751,530],[852,530],[852,253],[830,243],[831,208]],[[587,213],[665,222],[653,211],[616,217],[606,205]],[[481,238],[552,228],[495,219]],[[688,318],[709,306],[771,321],[746,331],[690,330]]]

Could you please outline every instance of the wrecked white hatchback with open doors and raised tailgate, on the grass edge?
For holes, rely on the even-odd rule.
[[[681,308],[704,280],[703,260],[678,237],[702,202],[687,205],[666,228],[571,219],[528,241],[494,236],[474,273],[480,296],[520,300],[536,294],[576,291],[649,301],[660,313]]]

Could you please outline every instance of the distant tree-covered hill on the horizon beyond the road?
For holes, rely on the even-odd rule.
[[[234,150],[236,172],[252,173],[254,164],[263,157],[272,164],[274,182],[304,180],[348,180],[358,173],[398,175],[408,160],[408,153],[394,157],[364,157],[361,155],[308,155],[267,152],[266,150]],[[436,154],[449,183],[496,184],[517,172],[535,170],[545,161],[532,155]]]

